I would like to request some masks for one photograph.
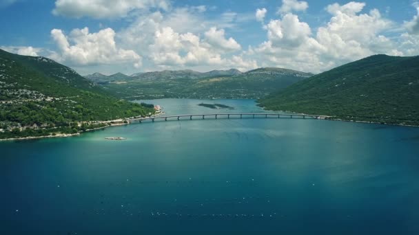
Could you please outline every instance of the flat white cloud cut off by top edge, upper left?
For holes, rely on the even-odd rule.
[[[169,10],[168,0],[57,0],[54,15],[94,19],[125,17],[132,10],[159,8]]]

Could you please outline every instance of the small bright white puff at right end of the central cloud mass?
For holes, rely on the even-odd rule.
[[[234,52],[241,49],[241,45],[234,40],[234,38],[225,38],[224,30],[217,30],[216,27],[211,27],[205,32],[205,40],[215,48],[221,49],[223,52]]]

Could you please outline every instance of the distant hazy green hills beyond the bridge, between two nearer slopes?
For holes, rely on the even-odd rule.
[[[283,89],[310,76],[312,74],[278,68],[260,68],[245,73],[237,69],[214,70],[207,73],[192,70],[165,70],[132,76],[131,80],[100,82],[100,85],[115,96],[132,100],[262,98],[277,89]]]

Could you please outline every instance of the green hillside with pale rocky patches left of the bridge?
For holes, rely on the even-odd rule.
[[[151,111],[111,96],[53,60],[0,50],[0,138],[74,133],[81,123]]]

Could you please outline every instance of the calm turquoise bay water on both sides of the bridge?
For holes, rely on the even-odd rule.
[[[152,102],[167,115],[226,112]],[[2,142],[0,154],[0,234],[419,233],[419,128],[159,121]]]

